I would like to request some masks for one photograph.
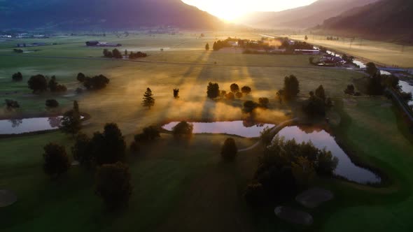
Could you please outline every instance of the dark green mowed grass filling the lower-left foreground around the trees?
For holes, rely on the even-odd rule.
[[[92,171],[72,167],[55,181],[43,173],[43,145],[54,141],[69,150],[72,142],[67,136],[27,136],[23,144],[21,138],[0,140],[0,186],[18,195],[18,203],[0,211],[0,231],[164,231],[162,225],[175,224],[169,220],[174,217],[191,217],[187,224],[173,227],[183,231],[243,229],[250,225],[237,185],[244,186],[241,180],[251,177],[256,157],[244,153],[235,164],[222,163],[219,151],[226,137],[200,135],[190,143],[177,143],[172,136],[162,134],[141,154],[130,154],[134,192],[130,206],[114,213],[107,212],[94,196]],[[235,140],[239,147],[255,143],[245,138]],[[223,213],[219,217],[218,209]],[[217,221],[208,225],[206,219]],[[234,225],[235,221],[241,223]]]

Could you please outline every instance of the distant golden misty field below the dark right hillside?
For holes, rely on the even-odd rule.
[[[289,36],[304,41],[305,35]],[[368,41],[356,39],[352,43],[349,38],[340,38],[339,41],[327,41],[325,36],[309,36],[309,43],[321,45],[337,52],[343,52],[355,57],[361,57],[386,66],[413,67],[413,46],[402,46],[395,43]],[[351,44],[351,48],[350,48]]]

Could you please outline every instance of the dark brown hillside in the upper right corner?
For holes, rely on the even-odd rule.
[[[325,20],[319,32],[413,43],[413,1],[382,0]]]

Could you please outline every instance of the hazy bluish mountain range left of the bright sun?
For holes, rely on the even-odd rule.
[[[0,0],[0,29],[214,29],[221,23],[181,0]]]

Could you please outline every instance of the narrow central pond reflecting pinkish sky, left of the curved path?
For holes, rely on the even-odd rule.
[[[234,122],[191,122],[194,125],[193,133],[226,133],[229,135],[246,138],[259,137],[265,128],[272,128],[274,124],[255,124],[246,121]],[[162,126],[163,129],[172,131],[179,122],[171,122]]]

